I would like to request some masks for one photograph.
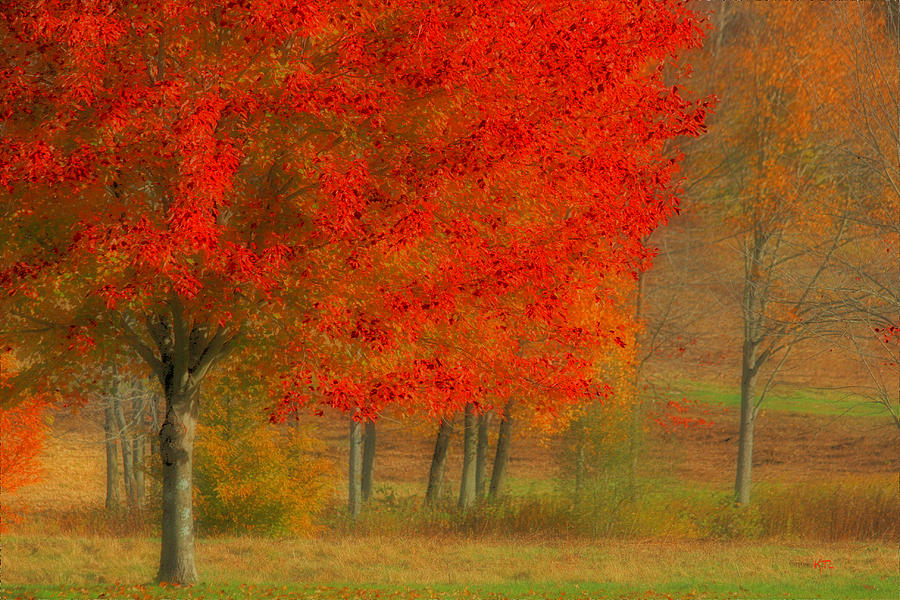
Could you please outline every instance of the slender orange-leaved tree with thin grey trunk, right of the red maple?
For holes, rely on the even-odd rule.
[[[819,290],[850,237],[847,182],[827,143],[849,69],[835,57],[822,7],[715,10],[718,32],[701,68],[721,90],[719,116],[702,142],[707,150],[692,150],[688,169],[703,174],[694,194],[704,199],[707,218],[738,232],[743,341],[735,498],[747,504],[760,406],[798,344],[838,317]]]

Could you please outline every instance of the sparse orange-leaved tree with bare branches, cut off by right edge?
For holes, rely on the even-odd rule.
[[[820,17],[850,66],[846,118],[834,146],[852,173],[852,244],[840,249],[829,300],[831,343],[865,373],[854,392],[900,427],[900,3],[833,6]]]

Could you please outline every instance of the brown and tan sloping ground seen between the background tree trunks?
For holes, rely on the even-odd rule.
[[[729,485],[737,456],[736,411],[709,407],[703,417],[712,421],[709,428],[666,433],[650,425],[644,470],[720,487]],[[310,423],[316,435],[326,441],[338,473],[343,475],[346,421],[311,417]],[[422,494],[431,460],[430,429],[385,419],[378,436],[376,480],[395,485],[401,495]],[[13,506],[24,503],[41,511],[100,506],[105,493],[102,439],[103,430],[95,416],[57,415],[43,455],[43,480],[23,488],[15,497],[4,497],[4,502]],[[460,469],[459,440],[454,444],[448,485]],[[896,428],[887,421],[768,412],[757,424],[754,458],[755,481],[866,476],[900,471],[900,444]],[[559,475],[559,463],[550,445],[535,437],[514,438],[511,477],[544,479]],[[342,491],[343,486],[338,486],[338,493]]]

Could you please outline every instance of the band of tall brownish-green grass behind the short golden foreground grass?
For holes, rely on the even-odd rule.
[[[448,499],[425,507],[417,496],[387,495],[351,521],[335,502],[322,516],[322,533],[463,535],[667,540],[796,539],[900,541],[900,482],[891,476],[848,476],[828,481],[760,485],[750,506],[729,494],[668,489],[631,498],[599,487],[578,498],[564,492],[512,496],[462,512]],[[134,537],[158,534],[159,512],[109,512],[101,507],[35,513],[21,533]],[[247,533],[241,530],[224,535]],[[209,537],[201,528],[200,535]]]

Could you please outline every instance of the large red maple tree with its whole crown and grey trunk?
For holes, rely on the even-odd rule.
[[[158,377],[161,581],[197,579],[199,386],[238,345],[288,350],[286,405],[594,394],[615,335],[568,304],[646,265],[704,116],[662,81],[676,1],[14,0],[0,37],[3,303]]]

